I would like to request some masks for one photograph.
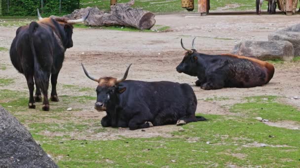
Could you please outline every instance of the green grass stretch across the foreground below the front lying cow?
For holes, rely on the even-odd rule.
[[[174,138],[70,140],[33,136],[47,153],[54,158],[60,157],[58,166],[66,168],[206,168],[216,165],[272,168],[297,167],[300,162],[297,130],[270,127],[250,119],[239,121],[219,115],[205,117],[210,120],[189,123],[183,126],[185,131],[174,132]],[[269,138],[269,135],[276,138]],[[267,147],[255,146],[255,142],[265,143]]]

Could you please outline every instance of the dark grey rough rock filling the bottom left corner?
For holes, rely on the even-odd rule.
[[[0,168],[58,168],[28,130],[1,106]]]

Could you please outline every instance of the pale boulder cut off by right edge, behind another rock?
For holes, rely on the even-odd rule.
[[[295,56],[300,56],[300,24],[283,28],[268,35],[268,40],[286,40],[293,44]]]

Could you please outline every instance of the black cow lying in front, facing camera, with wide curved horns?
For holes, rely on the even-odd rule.
[[[136,130],[205,120],[204,117],[195,116],[197,98],[188,84],[125,81],[130,65],[124,77],[117,80],[112,77],[93,78],[82,64],[85,75],[99,84],[95,109],[107,112],[101,120],[103,127],[129,127],[130,130]]]

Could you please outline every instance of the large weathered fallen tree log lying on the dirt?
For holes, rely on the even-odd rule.
[[[72,14],[63,17],[79,19],[90,10],[90,15],[85,21],[87,26],[124,26],[138,29],[150,29],[155,24],[154,14],[139,8],[132,8],[134,0],[127,3],[117,3],[111,6],[110,12],[100,11],[97,7],[76,9]]]

